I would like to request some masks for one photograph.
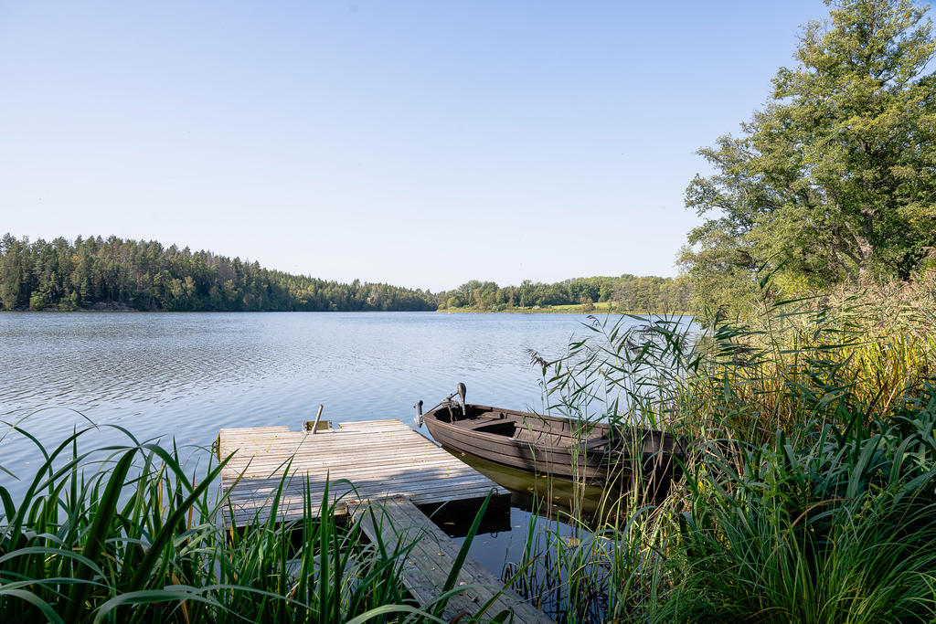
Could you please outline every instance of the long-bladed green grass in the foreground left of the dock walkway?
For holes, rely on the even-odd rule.
[[[196,480],[179,450],[127,443],[81,452],[94,428],[47,449],[21,498],[0,486],[0,620],[53,622],[433,621],[408,599],[400,568],[413,542],[387,551],[340,520],[308,487],[304,519],[265,518],[238,530],[216,462]],[[191,466],[191,463],[189,464]],[[4,480],[14,478],[4,469]],[[282,489],[282,487],[281,487]],[[312,507],[322,507],[319,517]]]

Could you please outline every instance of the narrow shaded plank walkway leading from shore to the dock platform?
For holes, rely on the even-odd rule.
[[[379,539],[388,551],[415,542],[402,565],[402,581],[422,605],[428,606],[445,587],[459,552],[455,544],[441,529],[419,511],[408,499],[396,497],[381,503],[362,504],[353,517],[372,540]],[[455,584],[461,592],[446,603],[443,619],[452,620],[459,614],[490,618],[503,611],[511,611],[515,622],[551,622],[543,612],[523,602],[509,588],[504,588],[496,576],[468,556]],[[483,605],[497,596],[484,614],[478,614]],[[431,607],[429,607],[431,608]]]

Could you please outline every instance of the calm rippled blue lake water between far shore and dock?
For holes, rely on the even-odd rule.
[[[472,402],[542,408],[528,350],[561,355],[585,330],[573,314],[16,313],[0,314],[0,414],[24,414],[47,443],[73,427],[115,424],[140,438],[210,445],[219,428],[400,418],[468,386]],[[423,429],[425,433],[425,430]],[[112,429],[85,444],[124,442]],[[0,465],[26,475],[36,451],[0,442]],[[16,492],[17,484],[5,485]],[[511,525],[526,516],[511,513]],[[522,537],[519,538],[522,540]],[[498,571],[502,535],[475,555]],[[497,544],[493,550],[491,546]]]

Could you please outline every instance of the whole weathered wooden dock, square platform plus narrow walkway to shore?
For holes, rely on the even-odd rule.
[[[489,493],[502,503],[509,497],[504,487],[399,420],[341,423],[314,434],[287,427],[221,429],[217,450],[219,457],[233,454],[221,472],[233,510],[228,523],[238,527],[267,519],[271,495],[284,480],[277,519],[299,519],[306,484],[312,500],[321,501],[328,482],[336,510],[361,522],[371,539],[376,531],[385,544],[418,539],[402,580],[421,604],[441,593],[459,546],[417,505],[480,501]],[[317,505],[312,513],[320,513]],[[517,622],[551,621],[516,594],[502,592],[504,584],[471,557],[456,587],[464,590],[448,601],[446,619],[475,615],[501,592],[485,618],[510,610]]]

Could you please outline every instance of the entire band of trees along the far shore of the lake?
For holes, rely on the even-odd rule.
[[[431,311],[580,306],[585,312],[685,312],[685,278],[589,277],[498,286],[471,281],[433,294],[386,283],[339,283],[262,268],[154,240],[0,239],[0,310],[171,312]],[[595,305],[597,304],[597,305]]]

